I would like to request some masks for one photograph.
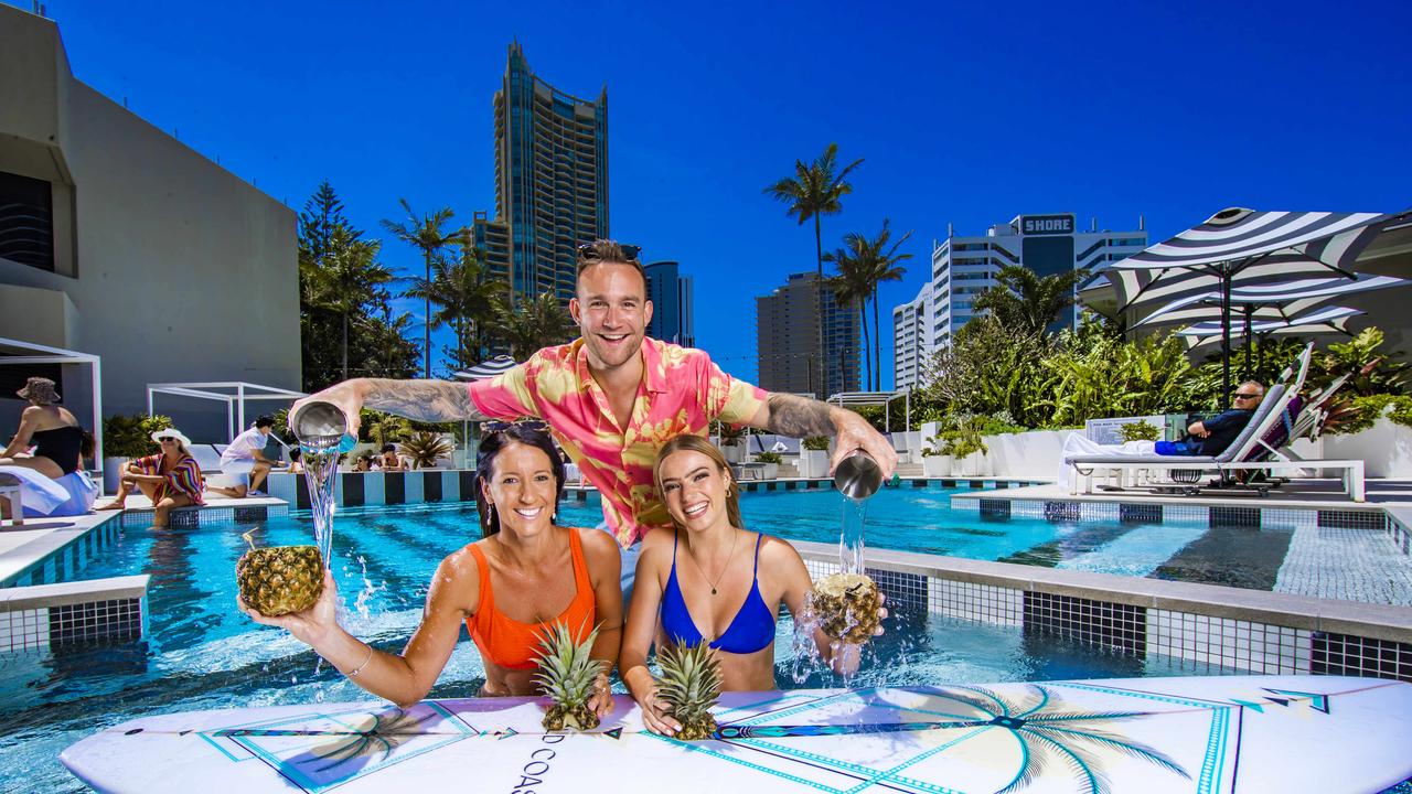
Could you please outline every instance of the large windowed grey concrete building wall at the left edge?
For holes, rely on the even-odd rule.
[[[0,312],[0,336],[102,356],[106,414],[144,411],[147,383],[298,389],[295,213],[76,81],[56,25],[3,4],[0,170],[54,185],[58,271],[0,259],[0,307],[72,308]]]

